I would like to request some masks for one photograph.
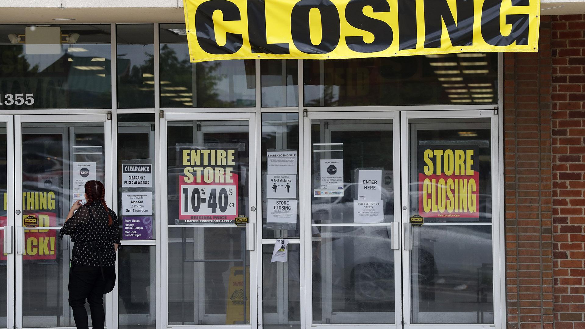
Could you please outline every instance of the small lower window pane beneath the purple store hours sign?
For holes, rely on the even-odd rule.
[[[118,328],[156,328],[154,246],[122,246],[118,252]]]

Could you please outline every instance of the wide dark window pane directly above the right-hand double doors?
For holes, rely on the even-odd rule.
[[[305,106],[497,104],[496,53],[305,60]]]

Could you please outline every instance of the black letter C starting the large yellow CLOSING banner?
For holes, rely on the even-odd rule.
[[[240,9],[233,2],[227,0],[209,0],[197,7],[195,11],[195,32],[199,47],[204,52],[216,55],[233,54],[242,48],[242,35],[226,33],[225,46],[219,46],[215,40],[215,26],[213,14],[215,11],[223,13],[223,20],[240,20]]]

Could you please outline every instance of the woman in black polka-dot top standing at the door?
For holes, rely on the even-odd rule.
[[[90,303],[93,328],[104,328],[104,279],[115,273],[120,244],[118,217],[106,205],[104,194],[101,182],[85,183],[87,202],[81,205],[81,200],[75,201],[60,232],[61,239],[63,235],[71,235],[75,243],[69,270],[69,306],[80,329],[88,328],[86,299]]]

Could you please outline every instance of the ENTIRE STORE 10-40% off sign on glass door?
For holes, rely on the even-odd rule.
[[[178,221],[185,224],[234,224],[238,216],[237,148],[180,148]]]

